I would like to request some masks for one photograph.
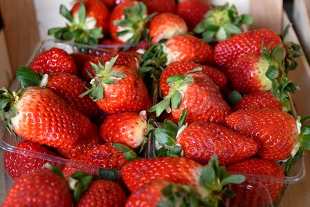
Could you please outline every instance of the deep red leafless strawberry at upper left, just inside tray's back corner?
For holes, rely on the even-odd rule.
[[[43,73],[68,72],[77,74],[74,59],[60,48],[52,48],[41,52],[31,63],[30,68]]]

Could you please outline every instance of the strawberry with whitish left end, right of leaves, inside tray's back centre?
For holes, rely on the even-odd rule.
[[[165,42],[167,65],[173,61],[198,61],[200,64],[213,63],[214,51],[205,41],[182,34]]]

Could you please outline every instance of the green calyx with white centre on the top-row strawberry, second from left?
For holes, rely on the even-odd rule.
[[[149,30],[147,24],[155,16],[147,16],[147,7],[142,2],[134,2],[134,6],[124,9],[124,19],[115,20],[113,23],[121,27],[117,32],[118,38],[127,44],[136,44],[141,39],[147,39]]]

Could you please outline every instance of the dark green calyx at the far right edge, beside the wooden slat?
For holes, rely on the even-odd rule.
[[[285,27],[285,30],[282,32],[282,42],[285,46],[285,72],[289,70],[294,70],[297,67],[296,57],[300,57],[302,52],[300,50],[300,45],[293,43],[292,41],[285,41],[287,34],[289,33],[290,24]]]

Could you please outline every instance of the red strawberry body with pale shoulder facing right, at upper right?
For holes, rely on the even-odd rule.
[[[269,63],[260,53],[247,53],[226,71],[231,87],[242,94],[271,90],[272,83],[265,75]]]

